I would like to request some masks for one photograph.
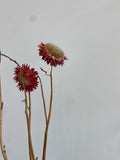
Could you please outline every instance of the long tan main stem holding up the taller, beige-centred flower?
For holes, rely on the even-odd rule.
[[[52,111],[52,100],[53,100],[52,67],[51,67],[51,71],[50,71],[50,84],[51,84],[50,106],[49,106],[49,114],[48,114],[46,129],[45,129],[45,135],[44,135],[44,146],[43,146],[43,157],[42,157],[42,160],[46,159],[46,147],[47,147],[48,128],[49,128],[49,123],[50,123],[50,118],[51,118],[51,111]]]

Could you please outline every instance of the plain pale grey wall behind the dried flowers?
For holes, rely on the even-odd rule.
[[[0,0],[0,49],[40,74],[49,105],[49,72],[38,44],[51,42],[68,61],[53,70],[54,100],[46,160],[120,160],[120,1]],[[28,160],[24,94],[16,65],[0,65],[3,141],[9,160]],[[32,93],[32,139],[42,157],[45,120],[40,87]],[[3,160],[0,152],[0,160]]]

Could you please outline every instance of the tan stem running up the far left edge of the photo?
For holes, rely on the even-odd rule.
[[[3,140],[2,140],[2,116],[3,116],[3,101],[2,101],[1,81],[0,81],[0,147],[4,160],[8,160],[5,150],[5,145],[3,145]]]

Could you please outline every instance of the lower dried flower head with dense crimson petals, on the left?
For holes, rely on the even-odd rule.
[[[17,66],[14,75],[14,80],[20,91],[25,89],[27,92],[31,92],[38,86],[38,73],[34,68],[30,69],[29,65],[22,64],[22,67]]]

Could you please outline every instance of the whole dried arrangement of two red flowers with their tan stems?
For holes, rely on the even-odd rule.
[[[46,103],[43,92],[42,80],[38,74],[38,72],[34,68],[30,68],[28,64],[20,65],[16,60],[11,57],[1,53],[0,51],[0,62],[1,57],[5,57],[15,63],[17,66],[14,70],[13,79],[17,83],[17,87],[20,91],[24,92],[24,102],[25,102],[25,116],[27,122],[27,132],[28,132],[28,148],[29,148],[29,159],[30,160],[38,160],[38,157],[34,154],[34,149],[32,145],[32,137],[31,137],[31,92],[37,89],[38,84],[40,83],[41,87],[41,95],[43,100],[44,107],[44,115],[45,115],[45,132],[44,132],[44,144],[43,144],[43,153],[42,160],[46,160],[46,146],[47,146],[47,137],[48,137],[48,128],[50,124],[51,111],[52,111],[52,101],[53,101],[53,78],[52,78],[52,70],[53,67],[57,65],[63,66],[64,60],[67,60],[67,57],[64,56],[64,52],[58,46],[52,43],[41,43],[39,46],[39,56],[50,65],[50,73],[48,74],[44,69],[41,70],[50,77],[50,104],[49,111],[46,111]],[[2,117],[3,117],[3,100],[2,100],[2,91],[1,91],[1,80],[0,80],[0,147],[4,160],[8,160],[8,155],[5,149],[5,145],[3,144],[2,137]]]

